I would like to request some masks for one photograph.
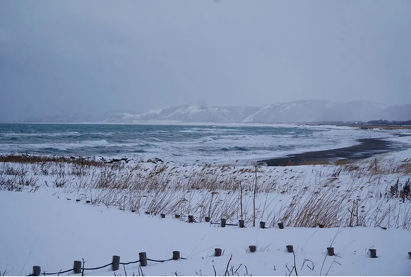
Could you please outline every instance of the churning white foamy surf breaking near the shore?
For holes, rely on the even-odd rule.
[[[295,126],[292,127],[295,128]],[[187,131],[192,133],[208,132],[210,134],[199,136],[198,139],[190,139],[190,136],[180,136],[179,139],[169,141],[167,140],[168,136],[156,137],[153,134],[149,134],[149,136],[143,139],[129,139],[121,141],[121,143],[114,143],[105,139],[75,141],[72,143],[5,143],[0,144],[0,152],[43,152],[49,154],[55,149],[56,152],[60,151],[84,156],[103,155],[105,158],[126,156],[127,158],[136,159],[162,158],[163,160],[177,163],[195,163],[198,160],[202,163],[233,163],[237,160],[242,162],[264,160],[301,152],[349,147],[358,144],[357,139],[390,136],[388,132],[357,130],[354,128],[312,128],[315,131],[308,133],[290,129],[289,132],[285,130],[282,134],[275,132],[274,129],[272,134],[267,132],[264,132],[264,134],[258,134],[258,132],[252,134],[253,131],[250,132],[250,130],[224,128],[225,132],[230,132],[225,134],[223,130],[218,128],[193,127]],[[307,129],[310,129],[310,127]],[[233,134],[232,130],[238,131],[238,134]],[[163,130],[156,130],[155,132],[160,131]],[[77,132],[55,134],[66,135],[69,133],[74,134]],[[38,134],[40,135],[40,133]],[[103,134],[106,136],[108,134],[115,134],[115,132],[80,134]],[[170,139],[172,138],[170,137]],[[53,141],[53,139],[49,139],[49,141]]]

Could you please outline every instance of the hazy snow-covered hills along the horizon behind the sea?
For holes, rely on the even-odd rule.
[[[408,121],[411,104],[384,106],[370,101],[336,103],[330,101],[293,101],[257,107],[169,106],[135,114],[105,112],[98,114],[66,113],[26,119],[26,123],[140,123],[140,122],[212,122],[212,123],[299,123],[325,121]]]

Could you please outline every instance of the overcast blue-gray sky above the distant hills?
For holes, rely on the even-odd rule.
[[[411,1],[0,1],[0,121],[300,99],[411,103]]]

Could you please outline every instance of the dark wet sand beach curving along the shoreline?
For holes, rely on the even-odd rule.
[[[350,147],[292,154],[282,158],[261,160],[260,162],[265,162],[269,167],[278,167],[326,161],[330,162],[338,159],[359,160],[370,158],[376,154],[383,154],[406,148],[401,143],[384,141],[384,139],[358,139],[357,141],[360,142],[360,144]]]

